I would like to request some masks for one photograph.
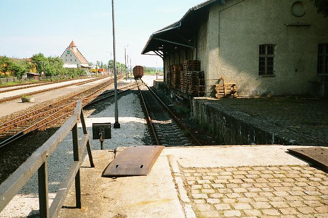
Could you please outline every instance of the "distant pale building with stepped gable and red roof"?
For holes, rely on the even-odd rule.
[[[62,53],[61,59],[65,68],[89,68],[89,62],[78,50],[73,40]]]

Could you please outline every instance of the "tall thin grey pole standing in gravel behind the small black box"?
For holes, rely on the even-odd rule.
[[[118,109],[118,106],[117,106],[117,72],[116,72],[116,50],[115,50],[114,0],[112,0],[112,18],[113,18],[113,53],[114,53],[114,99],[115,99],[115,123],[114,123],[114,128],[120,128],[119,109]]]

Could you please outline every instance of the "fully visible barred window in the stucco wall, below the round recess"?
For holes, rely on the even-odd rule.
[[[259,46],[259,76],[273,75],[273,44],[263,44]]]

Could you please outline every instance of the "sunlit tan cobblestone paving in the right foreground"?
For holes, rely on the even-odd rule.
[[[309,166],[182,168],[198,218],[328,218],[328,174]]]

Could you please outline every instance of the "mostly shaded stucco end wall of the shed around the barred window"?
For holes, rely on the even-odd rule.
[[[236,83],[238,95],[308,94],[317,76],[318,43],[328,42],[328,18],[313,1],[302,0],[303,17],[291,13],[295,0],[227,0],[209,9],[207,37],[199,37],[199,60],[206,79]],[[287,23],[310,23],[287,26]],[[199,28],[199,36],[203,27]],[[204,44],[207,47],[205,50]],[[273,77],[258,73],[259,45],[275,44]],[[207,53],[207,56],[205,55]],[[214,81],[207,81],[207,85]]]

